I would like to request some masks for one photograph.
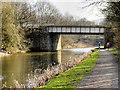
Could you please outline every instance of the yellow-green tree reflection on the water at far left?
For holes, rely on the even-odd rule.
[[[26,73],[32,69],[30,57],[26,57],[24,54],[16,54],[2,58],[2,76],[3,84],[7,86],[13,86],[14,80],[18,80],[20,83],[24,83]]]

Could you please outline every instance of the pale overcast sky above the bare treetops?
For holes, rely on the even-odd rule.
[[[66,13],[77,18],[86,18],[88,20],[99,20],[103,19],[104,15],[101,14],[99,8],[103,8],[104,5],[89,6],[86,5],[92,3],[93,1],[86,0],[49,0],[53,5],[64,15]],[[95,1],[95,0],[94,0]]]

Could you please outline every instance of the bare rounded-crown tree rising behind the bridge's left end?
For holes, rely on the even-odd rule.
[[[36,12],[36,23],[39,25],[56,24],[57,19],[61,17],[58,10],[49,2],[37,2],[33,8]]]

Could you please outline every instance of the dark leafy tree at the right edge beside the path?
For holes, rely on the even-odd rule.
[[[109,2],[103,12],[106,15],[107,24],[112,26],[111,32],[114,33],[114,44],[120,50],[120,1]]]

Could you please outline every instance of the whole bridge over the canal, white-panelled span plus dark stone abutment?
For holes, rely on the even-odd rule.
[[[32,47],[33,51],[61,50],[61,34],[105,35],[106,31],[110,29],[110,27],[105,26],[54,26],[54,25],[45,26],[30,25],[27,28],[30,31],[32,30],[32,33],[30,33],[29,37],[33,41],[34,46]]]

